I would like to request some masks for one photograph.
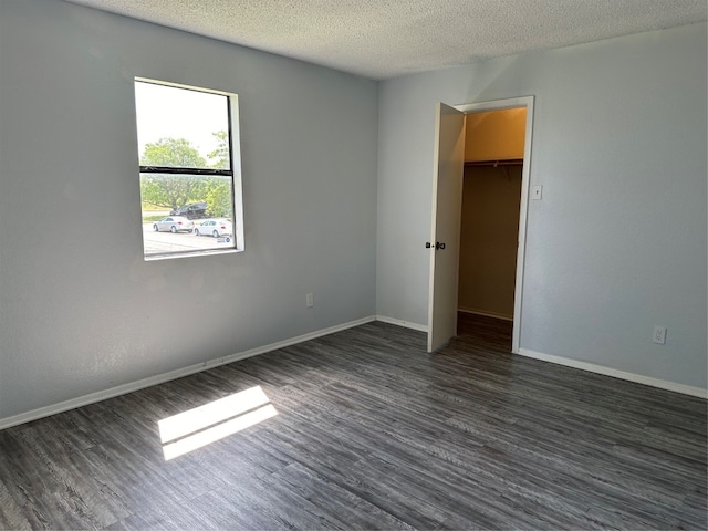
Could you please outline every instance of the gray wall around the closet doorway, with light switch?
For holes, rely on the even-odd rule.
[[[521,347],[705,388],[706,63],[701,23],[382,83],[377,313],[427,322],[435,103],[534,95]]]

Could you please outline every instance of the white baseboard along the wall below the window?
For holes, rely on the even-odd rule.
[[[27,413],[21,413],[12,417],[2,418],[0,419],[0,430],[10,428],[12,426],[18,426],[20,424],[37,420],[39,418],[56,415],[58,413],[67,412],[70,409],[75,409],[82,406],[87,406],[88,404],[94,404],[96,402],[105,400],[107,398],[113,398],[116,396],[125,395],[127,393],[133,393],[135,391],[150,387],[153,385],[164,384],[165,382],[169,382],[171,379],[189,376],[190,374],[200,373],[201,371],[207,371],[209,368],[218,367],[220,365],[227,365],[229,363],[238,362],[239,360],[246,360],[247,357],[257,356],[259,354],[264,354],[267,352],[277,351],[278,348],[284,348],[285,346],[291,346],[298,343],[303,343],[305,341],[314,340],[316,337],[322,337],[323,335],[341,332],[342,330],[352,329],[354,326],[358,326],[365,323],[371,323],[372,321],[376,321],[376,317],[374,315],[358,319],[356,321],[350,321],[343,324],[337,324],[335,326],[330,326],[327,329],[317,330],[315,332],[298,335],[295,337],[290,337],[288,340],[278,341],[275,343],[259,346],[257,348],[250,348],[248,351],[231,354],[226,357],[220,357],[217,360],[198,363],[196,365],[178,368],[175,371],[170,371],[168,373],[157,374],[148,378],[143,378],[143,379],[138,379],[137,382],[131,382],[128,384],[118,385],[110,389],[98,391],[96,393],[90,393],[87,395],[83,395],[77,398],[60,402],[59,404],[53,404],[51,406],[40,407],[38,409],[33,409]]]

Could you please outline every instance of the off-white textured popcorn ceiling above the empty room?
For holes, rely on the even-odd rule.
[[[706,0],[66,0],[375,80],[706,20]]]

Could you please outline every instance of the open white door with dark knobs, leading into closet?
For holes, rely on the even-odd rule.
[[[435,128],[428,352],[457,334],[457,283],[465,166],[465,114],[438,103]]]

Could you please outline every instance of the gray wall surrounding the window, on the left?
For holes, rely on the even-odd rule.
[[[246,252],[143,260],[134,76],[239,94]],[[0,1],[0,419],[373,315],[376,152],[375,82]]]

